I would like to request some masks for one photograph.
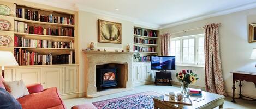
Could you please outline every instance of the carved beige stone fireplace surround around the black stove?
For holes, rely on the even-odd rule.
[[[84,77],[86,81],[86,97],[91,98],[98,96],[96,87],[96,65],[105,65],[110,63],[120,65],[121,70],[123,71],[120,73],[120,76],[123,77],[123,81],[120,82],[121,86],[126,89],[132,88],[133,52],[85,51],[84,53],[86,69]]]

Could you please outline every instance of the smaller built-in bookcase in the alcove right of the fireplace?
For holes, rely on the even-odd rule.
[[[134,27],[133,51],[140,57],[135,62],[150,62],[152,55],[158,54],[159,31],[142,27]]]

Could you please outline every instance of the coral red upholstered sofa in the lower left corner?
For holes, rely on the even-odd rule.
[[[1,75],[1,74],[0,74]],[[3,85],[3,76],[0,76],[0,87]],[[17,99],[23,109],[64,109],[63,101],[59,97],[56,87],[43,89],[41,84],[32,84],[27,86],[29,95]]]

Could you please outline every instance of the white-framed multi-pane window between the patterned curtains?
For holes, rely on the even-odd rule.
[[[177,65],[204,65],[204,34],[171,39],[170,55]]]

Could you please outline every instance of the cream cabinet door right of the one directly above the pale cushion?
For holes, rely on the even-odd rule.
[[[45,88],[57,87],[59,94],[63,94],[63,68],[42,68],[41,83]]]

